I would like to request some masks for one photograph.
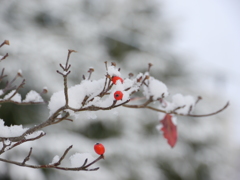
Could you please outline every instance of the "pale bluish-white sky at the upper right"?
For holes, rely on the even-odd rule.
[[[204,73],[209,84],[230,101],[232,138],[240,145],[240,1],[162,0],[174,29],[173,49],[192,59],[191,66]],[[195,68],[194,68],[195,67]],[[197,68],[196,68],[197,67]],[[220,87],[220,88],[219,88]]]

